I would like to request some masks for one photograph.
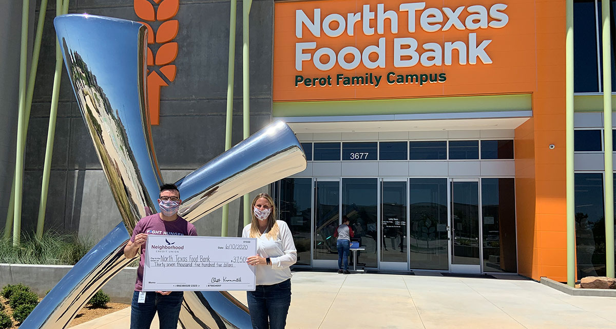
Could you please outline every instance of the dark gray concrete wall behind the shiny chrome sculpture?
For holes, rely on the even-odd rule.
[[[34,91],[26,151],[23,230],[36,227],[54,77],[54,1],[49,2],[41,64]],[[153,2],[152,2],[153,3]],[[132,1],[79,0],[70,12],[139,20]],[[242,136],[241,2],[238,3],[233,102],[233,144]],[[37,12],[38,14],[38,12]],[[253,1],[251,10],[251,131],[271,121],[274,1]],[[160,125],[152,127],[154,148],[166,181],[176,181],[224,151],[229,45],[229,1],[180,1],[176,79],[161,88]],[[121,72],[118,72],[118,78]],[[10,184],[10,182],[9,182]],[[230,207],[229,235],[241,231],[241,202]],[[1,210],[1,209],[0,209]],[[2,212],[0,211],[0,215]],[[3,218],[3,217],[2,217]],[[46,228],[78,231],[98,241],[120,222],[120,215],[62,72],[60,103],[47,202]],[[200,235],[220,235],[221,210],[197,223]],[[0,223],[4,225],[4,223]]]

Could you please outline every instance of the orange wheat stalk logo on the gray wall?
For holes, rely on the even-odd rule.
[[[148,103],[150,123],[160,122],[160,88],[168,86],[176,78],[177,36],[179,25],[172,18],[180,8],[180,0],[134,0],[135,14],[147,22],[148,28]],[[156,4],[156,8],[155,5]],[[154,31],[156,28],[156,32]]]

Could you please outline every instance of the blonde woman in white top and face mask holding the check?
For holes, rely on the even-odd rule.
[[[254,291],[246,292],[250,319],[254,329],[285,328],[291,304],[289,267],[298,252],[288,225],[276,220],[274,200],[267,193],[257,195],[251,209],[253,221],[241,232],[243,238],[257,238],[257,255],[248,257],[257,283]]]

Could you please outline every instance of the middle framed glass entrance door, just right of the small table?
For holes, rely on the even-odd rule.
[[[381,180],[381,270],[407,270],[407,180]]]

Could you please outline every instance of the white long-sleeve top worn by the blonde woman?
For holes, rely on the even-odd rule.
[[[271,265],[256,265],[257,285],[275,285],[291,278],[290,266],[298,260],[298,251],[293,243],[293,235],[286,222],[277,220],[280,233],[276,239],[268,239],[267,232],[257,238],[257,254],[270,257]],[[249,238],[250,225],[241,231],[242,238]]]

